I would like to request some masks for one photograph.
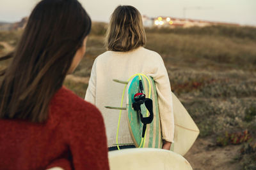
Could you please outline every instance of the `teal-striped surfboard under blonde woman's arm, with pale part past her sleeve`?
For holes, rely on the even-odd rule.
[[[137,147],[143,146],[145,148],[161,148],[163,143],[156,85],[150,76],[141,76],[141,80],[143,82],[144,94],[153,101],[154,119],[151,124],[147,125],[145,143],[141,145],[141,132],[143,124],[140,121],[140,117],[138,117],[138,113],[132,108],[132,103],[134,102],[133,97],[134,94],[138,92],[140,81],[140,77],[135,76],[127,85],[127,118],[129,131],[134,144]],[[190,117],[188,111],[173,93],[172,98],[175,133],[174,143],[172,144],[171,150],[175,153],[179,153],[180,155],[185,155],[193,143],[195,143],[200,131],[193,119]],[[147,117],[147,109],[145,108],[145,104],[141,105],[141,113],[143,113],[143,117]]]

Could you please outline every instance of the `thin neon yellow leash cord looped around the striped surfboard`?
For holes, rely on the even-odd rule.
[[[150,85],[150,81],[148,79],[148,77],[145,75],[145,74],[141,74],[141,73],[138,73],[138,74],[133,74],[127,81],[130,81],[132,78],[134,78],[134,76],[139,76],[140,80],[141,80],[141,76],[144,76],[147,81],[148,81],[148,86],[149,86],[149,98],[151,97],[151,85]],[[123,90],[123,94],[122,94],[122,100],[121,100],[121,104],[120,104],[120,107],[122,108],[123,106],[123,101],[124,101],[124,93],[125,93],[125,89],[126,89],[127,85],[125,85],[124,87],[124,90]],[[119,148],[119,145],[118,145],[118,131],[119,131],[119,127],[120,127],[120,120],[121,120],[121,115],[122,115],[122,110],[119,111],[119,118],[118,118],[118,126],[117,126],[117,131],[116,131],[116,146],[118,148],[118,150],[120,150]],[[147,110],[147,117],[148,117],[148,110]],[[143,143],[143,148],[145,146],[145,139],[146,139],[146,134],[147,134],[147,129],[145,131],[145,137],[144,138],[141,138],[141,141],[140,141],[140,146],[139,148],[141,148],[141,145]],[[143,141],[143,142],[142,142]]]

